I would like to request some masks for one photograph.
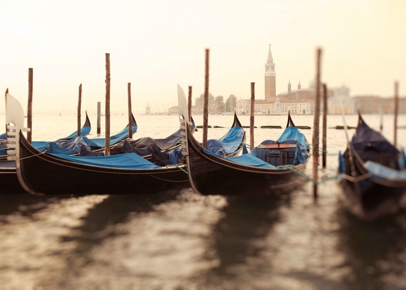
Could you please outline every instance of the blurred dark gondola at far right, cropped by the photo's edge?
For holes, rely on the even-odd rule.
[[[401,210],[406,194],[401,157],[399,150],[358,114],[355,133],[344,154],[339,154],[341,199],[350,212],[372,220]]]

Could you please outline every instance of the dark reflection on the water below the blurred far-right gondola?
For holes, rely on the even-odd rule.
[[[344,253],[344,266],[349,268],[344,278],[346,285],[357,289],[405,289],[406,213],[363,221],[339,208],[337,218],[341,221],[337,251]]]

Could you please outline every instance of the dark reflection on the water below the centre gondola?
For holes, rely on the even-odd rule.
[[[230,282],[244,272],[261,271],[248,265],[252,266],[252,261],[259,257],[258,260],[263,260],[263,251],[269,246],[265,237],[280,219],[280,205],[288,205],[289,201],[289,195],[228,196],[227,205],[221,209],[221,218],[212,227],[212,240],[202,257],[216,260],[216,263],[204,273],[206,280],[202,283]]]

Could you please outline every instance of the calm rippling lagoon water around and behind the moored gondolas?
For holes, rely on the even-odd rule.
[[[96,116],[89,117],[96,137]],[[296,125],[313,126],[312,116],[292,117]],[[239,118],[249,125],[249,116]],[[163,138],[178,128],[177,116],[136,119],[134,139]],[[202,124],[201,116],[194,119]],[[364,119],[379,128],[379,116]],[[346,121],[355,126],[357,116]],[[128,119],[112,114],[111,122],[115,133]],[[209,129],[209,138],[222,136],[232,122],[233,116],[209,116],[209,125],[225,127]],[[74,114],[38,115],[33,124],[33,140],[55,140],[77,127]],[[283,130],[261,125],[285,124],[286,116],[256,116],[255,143],[275,140]],[[341,116],[328,116],[328,127],[342,124]],[[398,125],[406,125],[406,116]],[[312,130],[303,132],[311,143]],[[393,140],[392,115],[384,116],[384,135]],[[201,130],[195,136],[201,140]],[[398,145],[406,147],[406,129],[398,130]],[[320,178],[335,175],[344,149],[344,130],[328,129]],[[335,180],[319,186],[317,200],[308,182],[279,197],[201,196],[191,188],[55,194],[0,195],[0,289],[406,288],[406,213],[357,220],[342,207]]]

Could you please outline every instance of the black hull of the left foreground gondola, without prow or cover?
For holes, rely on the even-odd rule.
[[[20,132],[17,174],[23,187],[43,194],[144,194],[189,185],[177,168],[116,169],[42,154]]]

